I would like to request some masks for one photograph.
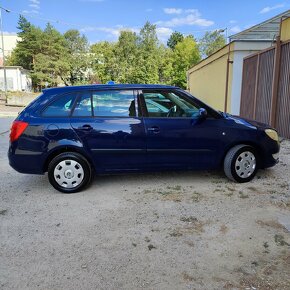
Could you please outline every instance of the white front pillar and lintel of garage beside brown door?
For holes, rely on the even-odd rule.
[[[240,102],[243,78],[243,61],[244,58],[257,51],[271,46],[271,42],[253,42],[253,41],[236,41],[233,59],[233,80],[231,92],[231,113],[240,114]]]

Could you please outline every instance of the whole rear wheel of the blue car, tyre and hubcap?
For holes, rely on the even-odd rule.
[[[79,153],[61,153],[49,163],[48,179],[58,191],[75,193],[90,183],[92,167],[87,159]]]

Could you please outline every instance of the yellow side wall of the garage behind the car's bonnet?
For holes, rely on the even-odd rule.
[[[230,59],[234,43],[230,44]],[[192,95],[217,110],[224,111],[226,70],[229,45],[202,60],[188,71],[188,89]],[[232,65],[229,69],[228,109],[231,108]]]

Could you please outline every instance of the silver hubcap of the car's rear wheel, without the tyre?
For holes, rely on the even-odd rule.
[[[54,169],[54,179],[62,187],[74,188],[84,179],[84,170],[75,160],[63,160]]]

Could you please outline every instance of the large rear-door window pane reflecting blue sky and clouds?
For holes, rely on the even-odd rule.
[[[95,117],[136,117],[136,103],[133,91],[93,92]]]

